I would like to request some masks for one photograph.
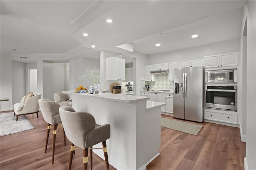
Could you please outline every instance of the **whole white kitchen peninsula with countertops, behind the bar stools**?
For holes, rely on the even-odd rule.
[[[146,170],[146,165],[159,155],[161,107],[166,103],[147,101],[150,97],[144,96],[63,93],[70,95],[77,112],[91,113],[100,125],[110,124],[110,139],[106,142],[108,160],[114,168]],[[102,150],[94,152],[104,158]]]

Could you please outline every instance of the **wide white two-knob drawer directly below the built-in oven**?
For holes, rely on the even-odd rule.
[[[205,109],[204,119],[211,120],[211,121],[224,122],[224,123],[232,123],[236,125],[238,124],[237,113],[233,111]]]

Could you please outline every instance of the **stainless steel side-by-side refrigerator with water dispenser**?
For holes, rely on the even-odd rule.
[[[173,117],[204,121],[204,67],[174,69]]]

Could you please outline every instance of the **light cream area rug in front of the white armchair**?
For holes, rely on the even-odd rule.
[[[25,115],[19,116],[18,121],[16,122],[16,116],[13,116],[13,114],[13,112],[0,114],[0,136],[23,132],[34,128]]]

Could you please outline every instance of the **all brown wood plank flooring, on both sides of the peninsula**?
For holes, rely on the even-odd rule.
[[[40,112],[38,119],[36,114],[26,115],[26,117],[35,129],[0,137],[0,169],[67,169],[70,142],[67,140],[67,144],[64,146],[62,130],[56,134],[54,164],[52,165],[52,130],[47,152],[44,154],[47,123]],[[167,115],[162,115],[162,117],[174,119]],[[239,128],[206,122],[184,122],[203,125],[203,128],[197,136],[194,136],[162,127],[160,155],[148,164],[147,170],[244,169],[245,143],[240,140]],[[100,158],[100,160],[102,159]],[[88,168],[90,168],[90,163]],[[82,150],[76,150],[72,169],[82,169]],[[105,167],[93,159],[93,169],[102,170]],[[115,170],[112,166],[110,169]]]

